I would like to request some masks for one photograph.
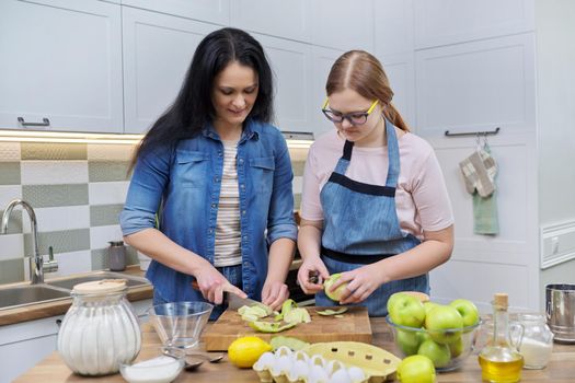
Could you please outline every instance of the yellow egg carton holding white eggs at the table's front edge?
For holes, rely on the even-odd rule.
[[[395,373],[400,361],[371,345],[334,341],[295,352],[279,347],[262,355],[253,369],[262,383],[380,383]]]

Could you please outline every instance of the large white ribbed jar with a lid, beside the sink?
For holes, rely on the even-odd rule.
[[[126,300],[125,279],[80,283],[58,333],[58,351],[82,375],[115,373],[140,351],[141,330]]]

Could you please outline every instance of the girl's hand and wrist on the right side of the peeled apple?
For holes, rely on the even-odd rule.
[[[330,291],[335,291],[340,286],[348,282],[342,293],[340,304],[359,303],[371,295],[384,282],[386,278],[378,264],[366,265],[352,271],[342,272]]]

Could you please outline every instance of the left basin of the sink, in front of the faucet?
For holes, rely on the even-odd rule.
[[[0,289],[0,309],[59,301],[70,298],[70,292],[46,285],[26,285]]]

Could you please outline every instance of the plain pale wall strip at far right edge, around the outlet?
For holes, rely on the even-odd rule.
[[[575,2],[536,1],[538,27],[538,125],[540,222],[557,229],[557,255],[575,255]],[[543,253],[548,249],[543,242]],[[575,283],[575,260],[541,271],[540,290],[548,283]],[[544,303],[541,302],[544,307]]]

